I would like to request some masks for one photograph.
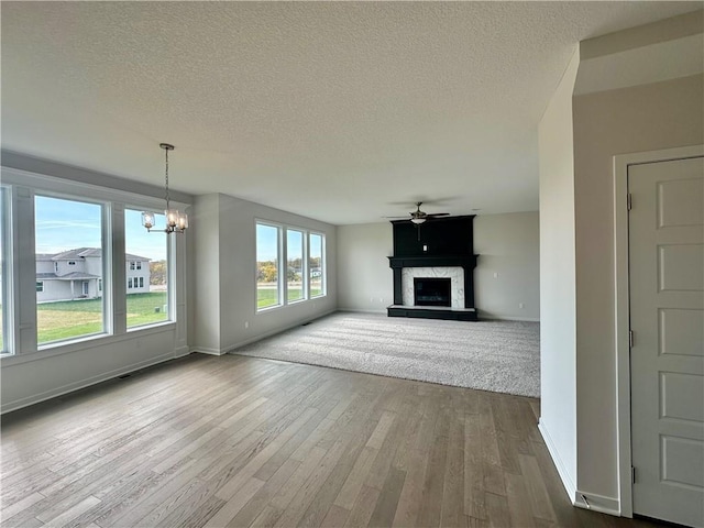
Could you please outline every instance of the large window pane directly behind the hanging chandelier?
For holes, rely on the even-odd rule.
[[[170,320],[169,280],[168,280],[168,238],[179,237],[161,232],[166,227],[164,215],[154,215],[153,232],[142,227],[142,209],[124,210],[124,248],[129,271],[142,270],[134,277],[134,288],[148,288],[148,292],[134,292],[128,295],[128,328],[156,324]],[[148,274],[147,274],[148,271]],[[132,278],[130,278],[132,282]],[[132,286],[130,286],[132,287]]]

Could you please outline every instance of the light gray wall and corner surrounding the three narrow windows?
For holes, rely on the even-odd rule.
[[[194,231],[196,309],[191,350],[227,353],[237,346],[336,310],[338,283],[334,226],[220,194],[198,197],[194,209],[194,218],[200,227]],[[324,233],[324,297],[256,311],[256,220]]]

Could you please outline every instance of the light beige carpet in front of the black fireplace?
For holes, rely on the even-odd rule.
[[[538,397],[539,328],[336,312],[232,353]]]

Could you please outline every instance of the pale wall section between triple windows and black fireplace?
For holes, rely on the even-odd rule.
[[[389,222],[338,228],[338,306],[341,310],[386,314],[394,302],[394,254]]]

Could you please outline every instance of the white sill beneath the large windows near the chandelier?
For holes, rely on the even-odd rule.
[[[127,333],[120,336],[99,334],[86,337],[79,340],[73,340],[65,343],[56,343],[51,346],[44,345],[36,351],[24,352],[20,354],[7,354],[0,356],[0,366],[13,366],[31,361],[45,360],[47,358],[54,358],[56,355],[69,354],[72,352],[78,352],[86,349],[95,349],[98,346],[105,346],[122,341],[133,340],[143,336],[150,336],[154,333],[174,332],[176,331],[176,322],[168,321],[161,324],[151,324],[148,327],[134,328]]]

